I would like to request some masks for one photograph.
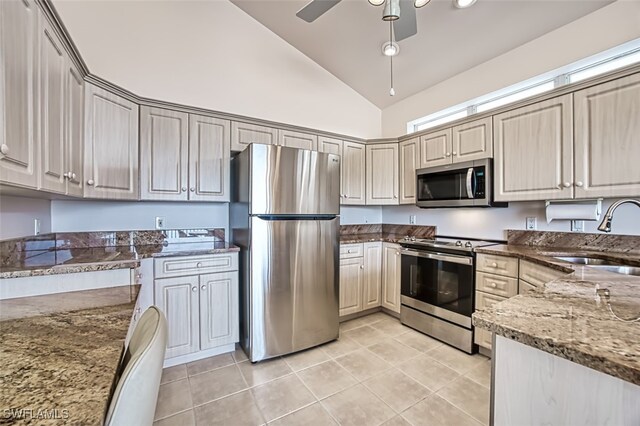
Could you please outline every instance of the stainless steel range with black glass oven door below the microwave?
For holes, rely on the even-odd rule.
[[[496,244],[455,238],[405,237],[402,246],[400,321],[467,353],[473,344],[475,255]]]

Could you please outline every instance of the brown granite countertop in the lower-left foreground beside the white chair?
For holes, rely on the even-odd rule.
[[[137,291],[0,301],[3,314],[12,312],[0,321],[0,407],[31,410],[21,418],[5,411],[0,423],[102,424]],[[57,420],[38,418],[52,413]]]

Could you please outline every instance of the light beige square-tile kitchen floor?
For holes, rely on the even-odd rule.
[[[383,313],[340,339],[251,364],[241,349],[167,368],[155,425],[481,425],[491,364]]]

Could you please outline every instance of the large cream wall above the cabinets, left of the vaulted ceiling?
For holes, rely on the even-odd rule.
[[[228,1],[54,5],[91,72],[133,93],[380,136],[378,107]]]

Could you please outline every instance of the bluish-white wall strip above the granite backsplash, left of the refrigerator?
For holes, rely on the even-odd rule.
[[[126,231],[155,229],[156,216],[166,229],[225,228],[229,230],[226,203],[170,203],[120,201],[51,202],[53,232]]]

